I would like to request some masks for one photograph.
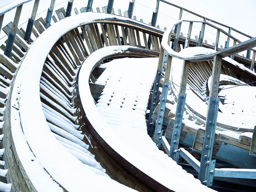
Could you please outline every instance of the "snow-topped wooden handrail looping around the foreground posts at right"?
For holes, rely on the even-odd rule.
[[[162,42],[161,42],[161,46],[163,47],[163,49],[165,49],[167,54],[172,56],[172,57],[176,57],[178,59],[187,60],[187,61],[191,61],[191,62],[206,61],[206,60],[212,60],[215,55],[220,55],[222,57],[226,57],[226,56],[230,56],[230,55],[235,54],[235,53],[242,52],[242,51],[247,50],[247,49],[251,49],[251,48],[256,46],[256,37],[255,37],[255,38],[251,38],[251,39],[249,39],[245,42],[242,42],[240,44],[234,45],[230,48],[219,50],[215,53],[206,54],[206,55],[203,55],[203,56],[182,57],[180,54],[178,54],[177,52],[172,50],[172,48],[167,44],[167,42],[169,42],[168,39],[170,38],[170,34],[172,34],[173,28],[176,25],[178,25],[179,23],[182,23],[182,22],[193,22],[193,21],[181,20],[180,19],[176,22],[171,23],[169,25],[169,27],[167,27],[165,33],[163,34],[163,38],[162,38]],[[205,23],[207,23],[207,22],[205,22]]]

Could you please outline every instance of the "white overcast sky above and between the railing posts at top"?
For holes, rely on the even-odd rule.
[[[0,7],[12,2],[13,0],[0,0]],[[190,11],[196,12],[202,16],[206,16],[212,20],[223,23],[225,25],[231,26],[243,33],[251,35],[252,37],[256,36],[256,26],[252,25],[253,20],[256,18],[256,0],[167,0],[173,4],[177,4],[181,7],[184,7]],[[26,22],[31,15],[31,10],[33,8],[34,0],[23,5],[22,15],[20,17],[19,25]],[[38,12],[41,14],[37,15],[39,17],[46,17],[47,8],[50,5],[50,0],[40,0]],[[94,0],[93,10],[96,11],[96,7],[101,7],[108,5],[108,0]],[[87,6],[87,0],[74,0],[73,8],[78,8]],[[129,0],[114,0],[114,11],[117,14],[117,9],[121,9],[122,13],[128,10]],[[151,22],[151,17],[153,11],[155,11],[156,0],[135,0],[135,7],[133,15],[137,17],[137,20],[143,19],[144,23]],[[56,0],[54,9],[59,9],[61,7],[67,8],[67,0]],[[7,25],[10,21],[13,20],[16,9],[8,12],[4,16],[3,26]],[[73,11],[73,10],[72,10]],[[101,10],[102,11],[102,10]],[[167,27],[170,22],[178,19],[179,9],[174,8],[171,5],[167,5],[163,2],[159,4],[159,13],[157,19],[157,25],[161,29]],[[74,14],[74,12],[72,12]],[[36,19],[37,19],[36,18]],[[188,20],[201,20],[196,16],[186,13],[183,11],[182,19]],[[214,24],[215,25],[215,24]],[[195,35],[199,36],[201,29],[201,24],[193,25],[195,28],[192,30],[192,38]],[[22,25],[23,29],[26,30],[26,23]],[[222,28],[225,31],[228,31],[225,27]],[[182,24],[181,32],[186,35],[188,31],[188,25]],[[212,30],[210,27],[206,27],[206,32],[204,39],[207,39],[208,43],[215,42],[217,30]],[[0,39],[3,38],[5,33],[1,30]],[[238,35],[236,32],[232,32],[231,35],[238,38],[240,41],[246,41],[248,38],[244,38],[241,35]],[[0,42],[2,42],[6,37],[4,37]],[[220,45],[225,45],[226,36],[221,35]],[[230,41],[230,45],[233,44],[233,41]]]

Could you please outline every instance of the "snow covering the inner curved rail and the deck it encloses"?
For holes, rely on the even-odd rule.
[[[126,50],[127,46],[118,46],[118,48],[119,51],[121,49]],[[99,77],[102,78],[100,82],[105,81],[106,84],[107,89],[103,93],[105,92],[104,94],[110,95],[110,97],[113,96],[113,98],[117,95],[121,98],[120,101],[123,99],[124,103],[126,99],[130,100],[127,106],[123,107],[118,104],[108,105],[111,98],[106,96],[104,97],[106,99],[105,105],[100,104],[99,106],[97,104],[95,106],[90,94],[89,83],[87,83],[90,72],[97,61],[101,59],[98,56],[115,52],[117,50],[114,46],[99,49],[84,61],[80,69],[79,94],[83,109],[94,129],[118,154],[167,188],[177,192],[188,190],[212,191],[212,189],[200,184],[199,180],[188,174],[181,166],[178,166],[167,154],[158,150],[158,147],[147,135],[145,116],[132,110],[132,104],[136,102],[135,98],[142,95],[145,100],[149,98],[155,72],[157,71],[158,58],[125,58],[109,62],[102,73],[102,77]],[[144,74],[147,74],[144,77],[145,79],[143,79]],[[140,85],[141,87],[145,86],[145,88],[139,90]],[[141,102],[147,103],[142,100]],[[157,167],[157,169],[151,167]],[[161,173],[161,178],[158,177],[159,173]],[[183,185],[183,181],[186,181],[187,184]]]

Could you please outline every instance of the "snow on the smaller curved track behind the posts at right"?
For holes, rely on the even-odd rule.
[[[183,49],[181,50],[181,52],[177,54],[182,57],[192,57],[198,54],[210,54],[214,52],[215,51],[212,49],[207,49],[203,47],[193,47],[193,48]],[[179,87],[176,86],[175,84],[180,85],[182,64],[183,64],[183,60],[177,59],[177,58],[172,59],[170,80],[173,82],[171,83],[171,86],[176,97],[178,96]],[[223,77],[222,79],[225,80],[226,76],[222,76],[222,77]],[[234,80],[234,78],[231,78],[231,77],[229,79]],[[238,82],[238,83],[242,83],[242,82]],[[222,87],[227,88],[227,87],[233,87],[233,86],[232,85],[220,86],[220,88]],[[191,88],[189,84],[187,84],[187,89],[193,89],[193,88]],[[228,97],[231,98],[231,96],[233,95],[233,97],[237,97],[237,100],[236,100],[237,102],[244,101],[244,103],[242,104],[243,109],[240,108],[241,110],[239,109],[239,111],[238,110],[233,111],[234,114],[230,112],[229,113],[218,112],[217,123],[226,124],[229,126],[233,126],[235,128],[239,127],[239,128],[253,129],[255,126],[255,121],[254,121],[255,117],[252,118],[252,115],[255,113],[247,117],[245,115],[241,116],[241,114],[243,114],[242,110],[244,110],[245,112],[247,111],[248,113],[250,111],[255,111],[255,110],[251,110],[252,107],[254,106],[254,103],[256,103],[255,90],[256,90],[255,87],[252,87],[252,86],[239,86],[239,87],[234,87],[232,89],[221,90],[220,94],[222,96],[228,95]],[[237,94],[237,93],[241,93],[241,94]],[[193,109],[195,112],[199,113],[201,116],[206,117],[207,104],[204,103],[195,93],[193,93],[192,90],[186,90],[186,94],[187,94],[186,108]],[[233,97],[231,99],[233,99]],[[246,99],[241,99],[242,97],[243,98],[246,97]],[[220,104],[220,106],[222,105]],[[224,105],[224,109],[227,107],[228,106]]]

